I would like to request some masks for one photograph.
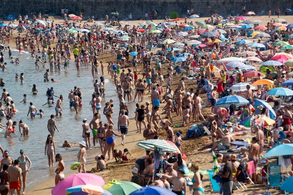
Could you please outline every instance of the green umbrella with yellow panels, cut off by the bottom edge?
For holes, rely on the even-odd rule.
[[[133,182],[112,180],[108,184],[102,186],[102,188],[109,191],[113,195],[129,195],[133,191],[142,187]]]

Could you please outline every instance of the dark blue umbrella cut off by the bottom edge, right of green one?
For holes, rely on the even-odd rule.
[[[174,192],[159,186],[147,186],[140,188],[129,195],[176,195]]]

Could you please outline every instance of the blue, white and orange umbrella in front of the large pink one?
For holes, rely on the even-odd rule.
[[[112,195],[110,192],[107,190],[103,189],[100,186],[95,186],[92,184],[87,184],[87,185],[78,185],[74,186],[71,188],[66,189],[66,194],[70,195],[88,195],[88,194],[93,194],[93,195]]]

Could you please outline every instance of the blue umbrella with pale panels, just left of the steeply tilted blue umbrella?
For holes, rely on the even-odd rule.
[[[241,96],[226,96],[221,99],[215,104],[216,108],[224,107],[229,108],[231,104],[234,104],[236,107],[238,106],[246,106],[249,104],[249,101]]]

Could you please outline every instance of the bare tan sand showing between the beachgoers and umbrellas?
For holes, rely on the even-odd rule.
[[[50,16],[51,17],[51,16]],[[49,17],[49,18],[50,18]],[[268,18],[267,15],[265,16],[252,16],[249,17],[247,16],[248,19],[250,20],[261,20],[263,21],[262,25],[266,25],[270,20],[276,19],[277,16],[271,16],[271,18]],[[293,17],[292,16],[280,16],[280,18],[283,18],[285,20],[288,21],[288,24],[293,23]],[[53,18],[51,17],[50,20],[52,20]],[[60,17],[59,17],[60,19]],[[55,18],[55,23],[61,23],[61,21],[57,18]],[[204,21],[208,18],[194,18],[194,19],[188,19],[188,22],[193,21],[193,23],[195,21]],[[153,20],[154,23],[160,23],[162,22],[162,20]],[[102,22],[102,21],[95,21],[95,22]],[[144,21],[138,21],[138,20],[132,20],[132,21],[122,21],[122,23],[125,24],[130,24],[130,25],[140,25],[142,24]],[[180,24],[180,22],[184,22],[184,20],[182,21],[178,21],[178,23]],[[91,23],[90,23],[91,24]],[[123,25],[122,25],[123,26]],[[12,39],[14,40],[14,39]],[[257,39],[249,39],[249,40],[255,40],[257,41]],[[13,43],[13,41],[10,42],[9,46],[15,48],[15,44]],[[153,52],[153,51],[152,51]],[[99,56],[100,61],[103,61],[104,65],[108,64],[108,62],[111,61],[116,61],[116,57],[111,57],[111,54],[106,54],[103,56]],[[73,63],[72,63],[73,64]],[[154,62],[151,63],[151,66],[154,66]],[[129,67],[129,65],[126,65],[125,69],[127,69]],[[143,72],[143,66],[142,64],[139,64],[137,66],[137,70],[139,73],[139,78],[142,78],[142,72]],[[90,70],[88,70],[90,71]],[[106,71],[105,71],[106,72]],[[167,72],[167,66],[162,66],[162,74],[164,75],[165,78],[165,73]],[[99,75],[100,76],[100,75]],[[181,75],[173,75],[173,86],[177,88],[178,86],[178,82],[181,79]],[[113,80],[112,80],[113,81]],[[114,82],[114,81],[113,81]],[[89,85],[92,85],[91,83],[89,83]],[[191,87],[195,88],[196,85],[196,81],[186,81],[185,82],[185,87],[189,90]],[[166,90],[166,87],[163,87],[164,90]],[[207,100],[207,97],[205,94],[201,94],[200,97],[202,98],[202,100]],[[144,95],[144,102],[145,101],[150,101],[150,94],[145,94]],[[142,104],[140,103],[140,105]],[[134,103],[129,103],[129,104],[134,104]],[[161,104],[162,106],[165,106],[165,104]],[[88,106],[88,105],[85,105]],[[202,113],[205,117],[207,117],[207,115],[210,113],[211,107],[207,107],[207,108],[202,108]],[[115,159],[114,160],[110,160],[107,161],[108,164],[108,169],[101,171],[101,172],[96,172],[93,174],[99,175],[101,177],[103,177],[105,183],[108,183],[110,180],[112,179],[116,179],[116,180],[123,180],[123,181],[130,181],[131,177],[132,177],[132,173],[131,173],[131,169],[134,167],[134,163],[135,161],[140,158],[141,156],[145,155],[145,151],[141,148],[139,148],[138,146],[136,146],[136,144],[139,141],[144,140],[142,134],[138,134],[135,133],[137,131],[137,127],[135,125],[136,121],[134,119],[134,111],[130,111],[130,125],[129,125],[129,130],[128,130],[128,134],[126,136],[126,145],[122,146],[121,145],[121,138],[120,137],[116,137],[116,146],[115,149],[118,150],[122,150],[127,148],[132,155],[130,156],[130,162],[129,163],[116,163]],[[165,115],[162,115],[162,118],[165,117]],[[173,117],[173,122],[174,125],[176,124],[180,124],[182,122],[182,117],[178,117],[176,116],[176,114],[173,113],[172,115]],[[190,121],[190,124],[196,124],[196,123],[192,123]],[[117,129],[117,124],[114,124],[115,129]],[[183,132],[183,136],[186,134],[187,130],[189,129],[189,127],[175,127],[173,128],[174,132],[178,132],[179,130],[181,132]],[[248,132],[248,134],[250,134],[250,132]],[[159,139],[166,139],[166,132],[165,130],[159,129],[158,131],[158,136]],[[239,136],[237,137],[239,139],[246,139],[246,136]],[[210,170],[212,169],[213,166],[213,161],[212,161],[212,155],[210,153],[207,153],[206,151],[198,151],[198,149],[200,147],[202,147],[203,145],[210,143],[209,141],[209,137],[204,136],[204,137],[200,137],[200,138],[193,138],[193,139],[187,139],[183,141],[183,146],[181,146],[182,151],[184,153],[186,153],[187,156],[187,163],[197,163],[199,165],[200,170]],[[265,143],[266,145],[268,144],[267,142]],[[97,155],[100,155],[100,149],[99,148],[95,148],[93,150],[97,151]],[[267,147],[265,147],[265,150],[263,151],[263,153],[265,153],[268,150]],[[72,155],[72,158],[76,158],[75,153]],[[271,158],[269,159],[270,163],[273,162],[275,163],[276,158]],[[66,161],[65,161],[66,163]],[[87,163],[86,163],[86,170],[91,172],[91,170],[93,168],[96,167],[96,161],[94,160],[94,156],[88,156],[87,157]],[[68,170],[66,170],[68,171]],[[68,177],[69,175],[75,174],[77,173],[77,171],[68,171],[65,174],[65,177]],[[49,195],[51,194],[51,190],[52,188],[55,186],[54,184],[54,177],[53,176],[48,176],[46,178],[46,180],[44,182],[41,182],[40,184],[31,184],[27,187],[26,190],[26,194],[29,195],[39,195],[39,194],[44,194],[44,195]],[[209,178],[207,175],[204,175],[203,177],[203,187],[206,191],[206,194],[209,194],[211,192],[211,187],[209,185]],[[253,194],[253,193],[263,193],[265,191],[265,187],[263,184],[256,184],[256,185],[247,185],[248,189],[246,190],[242,190],[240,191],[234,191],[234,194]],[[270,192],[272,192],[272,194],[276,195],[279,194],[280,191],[275,190],[275,189],[270,189]],[[188,194],[189,194],[189,190],[188,190]]]

